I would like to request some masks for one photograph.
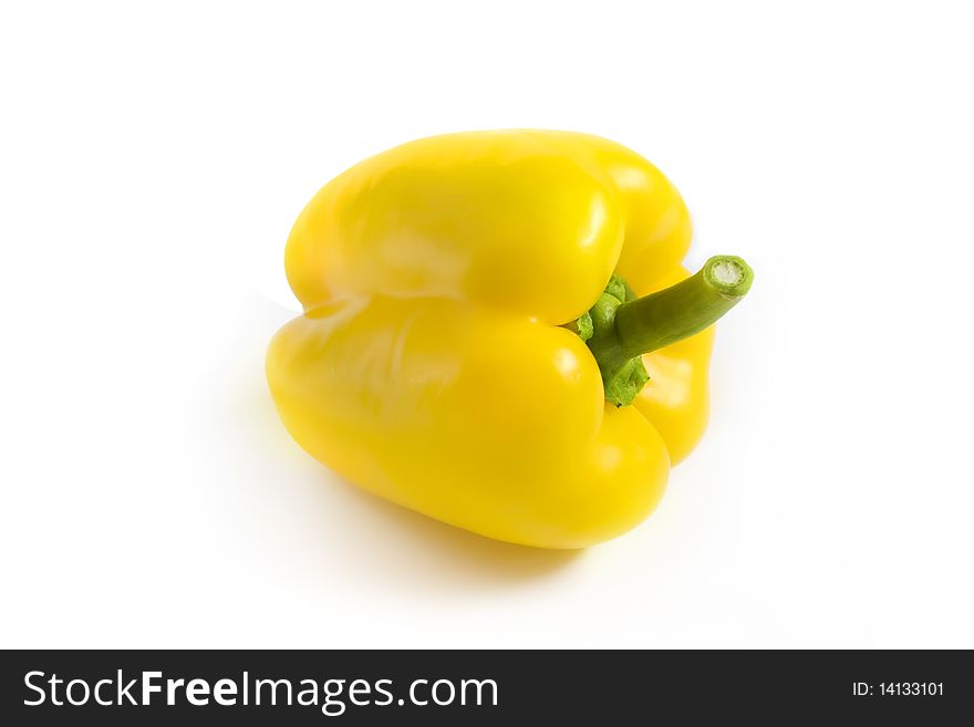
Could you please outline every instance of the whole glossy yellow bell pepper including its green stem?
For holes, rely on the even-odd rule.
[[[733,257],[691,277],[691,233],[659,169],[594,136],[365,159],[288,239],[304,314],[268,351],[278,412],[335,472],[444,522],[542,548],[619,536],[701,438],[708,326],[752,280]]]

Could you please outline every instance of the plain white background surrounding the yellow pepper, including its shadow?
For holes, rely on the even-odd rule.
[[[974,647],[968,12],[4,3],[0,645]],[[311,195],[511,126],[639,150],[757,272],[704,443],[583,553],[361,494],[263,382]]]

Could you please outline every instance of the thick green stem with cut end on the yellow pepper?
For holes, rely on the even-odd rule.
[[[633,299],[628,287],[624,292],[613,288],[613,283],[624,285],[613,277],[586,314],[592,322],[587,343],[602,372],[605,398],[616,406],[631,404],[649,381],[640,356],[712,325],[740,302],[753,280],[744,260],[726,255],[711,258],[683,282],[644,298]]]

